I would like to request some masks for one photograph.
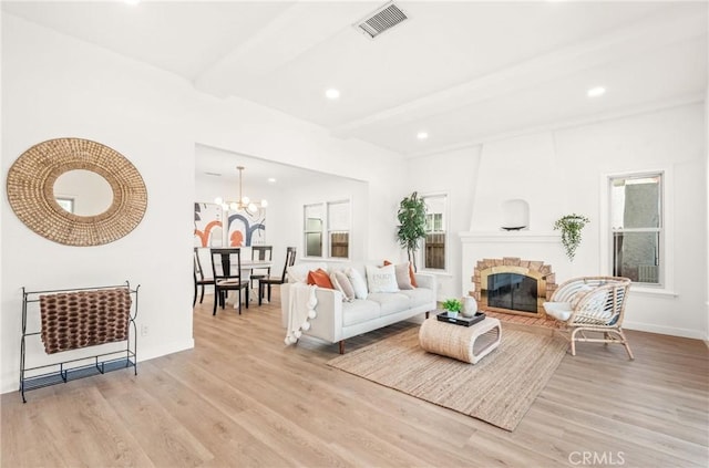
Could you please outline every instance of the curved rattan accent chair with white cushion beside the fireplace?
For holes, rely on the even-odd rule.
[[[569,332],[572,355],[576,342],[618,343],[634,360],[628,340],[623,332],[623,316],[630,280],[623,277],[582,277],[562,283],[544,303],[546,313],[565,323]],[[588,337],[585,332],[602,333],[603,337]]]

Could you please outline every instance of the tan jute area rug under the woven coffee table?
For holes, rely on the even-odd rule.
[[[328,365],[512,431],[567,347],[558,336],[503,329],[500,346],[472,365],[423,351],[413,327]]]

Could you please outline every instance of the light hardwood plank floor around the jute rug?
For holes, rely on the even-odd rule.
[[[2,395],[1,466],[706,467],[705,343],[628,332],[566,355],[514,433],[329,367],[337,345],[284,345],[280,308],[194,311],[195,349]],[[348,341],[364,346],[414,324]],[[138,349],[140,353],[140,349]],[[138,354],[140,355],[140,354]],[[471,394],[471,398],[475,395]]]

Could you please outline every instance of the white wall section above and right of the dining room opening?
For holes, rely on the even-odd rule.
[[[366,230],[368,257],[400,252],[394,237],[397,207],[405,195],[400,155],[358,139],[333,138],[322,127],[234,97],[197,95],[193,116],[201,144],[366,181],[367,222],[358,228]]]

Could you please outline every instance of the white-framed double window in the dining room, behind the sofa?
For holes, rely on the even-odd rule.
[[[349,258],[350,201],[306,205],[304,212],[305,256]]]

